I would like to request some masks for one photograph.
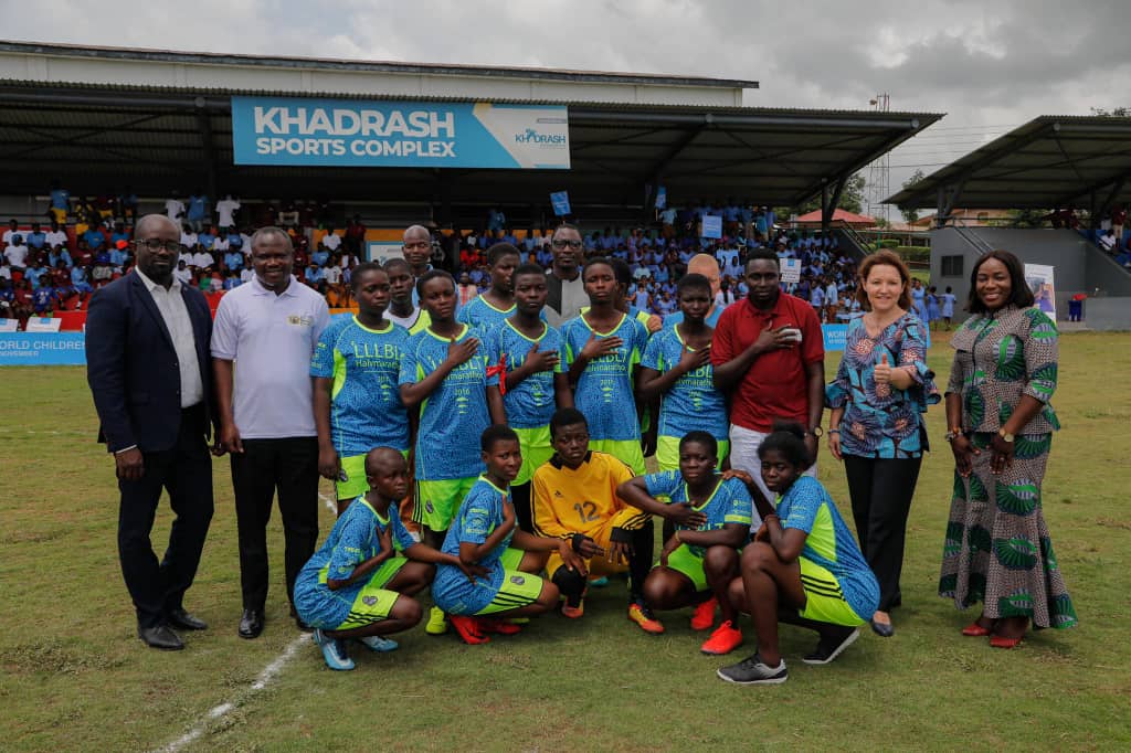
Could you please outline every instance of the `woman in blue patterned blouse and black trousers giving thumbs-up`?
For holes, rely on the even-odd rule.
[[[856,295],[864,314],[849,321],[840,367],[824,391],[829,451],[844,460],[856,536],[880,581],[872,630],[888,638],[890,612],[903,600],[907,514],[927,449],[922,416],[939,391],[926,365],[925,324],[909,312],[903,260],[891,251],[866,257]]]

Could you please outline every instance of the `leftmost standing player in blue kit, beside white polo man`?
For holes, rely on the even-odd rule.
[[[335,482],[338,514],[369,491],[365,455],[374,447],[408,452],[408,413],[400,400],[400,354],[408,332],[385,319],[389,275],[372,261],[349,279],[357,313],[322,330],[311,358],[318,471]]]

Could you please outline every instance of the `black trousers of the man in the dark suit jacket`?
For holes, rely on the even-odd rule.
[[[185,408],[181,412],[176,445],[143,452],[141,478],[118,482],[118,555],[139,628],[155,628],[166,612],[180,608],[196,578],[213,516],[211,458],[205,431],[204,407]],[[176,517],[158,563],[149,535],[162,490],[169,492]]]

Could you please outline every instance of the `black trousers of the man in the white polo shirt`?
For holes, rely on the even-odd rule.
[[[294,581],[318,546],[318,439],[243,440],[243,452],[232,455],[232,487],[243,608],[262,611],[267,603],[267,522],[276,492],[286,592],[293,604]]]

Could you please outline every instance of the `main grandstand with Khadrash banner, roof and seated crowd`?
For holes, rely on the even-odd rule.
[[[54,314],[80,329],[92,291],[129,269],[132,222],[162,213],[184,228],[178,275],[214,305],[249,279],[249,237],[265,225],[287,228],[296,276],[348,309],[349,269],[399,253],[408,225],[432,228],[434,263],[482,288],[492,243],[549,266],[549,234],[567,218],[588,252],[630,263],[638,300],[655,313],[674,306],[696,252],[718,258],[724,298],[742,295],[740,260],[759,246],[802,259],[792,289],[826,309],[830,285],[846,301],[862,251],[854,234],[830,228],[847,180],[941,115],[746,106],[757,89],[753,80],[0,42],[0,218],[12,219],[0,297],[8,317]],[[414,118],[431,118],[441,135],[464,129],[444,119],[465,111],[493,135],[528,115],[537,126],[512,141],[409,147],[394,142],[391,111],[372,114],[380,106],[412,109],[400,136],[424,122]],[[316,112],[329,113],[326,133],[370,118],[363,124],[385,140],[338,159],[333,149],[354,144],[309,138]],[[262,140],[248,136],[252,126]],[[288,128],[297,130],[268,138]],[[446,155],[454,159],[431,159]],[[553,193],[564,204],[555,207]],[[814,197],[820,220],[785,231],[772,208]],[[719,218],[717,233],[705,216]]]

